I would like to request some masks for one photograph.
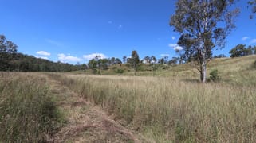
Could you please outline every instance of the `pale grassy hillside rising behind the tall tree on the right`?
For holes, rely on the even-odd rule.
[[[256,85],[256,55],[242,56],[237,58],[220,58],[211,60],[207,66],[207,77],[209,73],[217,69],[220,82],[242,83]],[[170,68],[168,71],[159,72],[158,75],[174,75],[186,79],[199,79],[199,72],[191,64],[183,64]]]

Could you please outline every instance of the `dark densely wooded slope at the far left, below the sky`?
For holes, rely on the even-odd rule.
[[[36,58],[17,52],[18,46],[0,35],[0,71],[16,72],[71,72],[85,68],[85,64],[73,65]]]

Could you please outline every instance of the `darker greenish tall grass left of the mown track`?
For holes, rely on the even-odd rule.
[[[0,142],[45,142],[58,112],[45,77],[0,72]]]

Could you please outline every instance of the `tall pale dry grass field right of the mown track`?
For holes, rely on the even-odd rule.
[[[152,141],[256,141],[254,87],[160,77],[52,77]]]

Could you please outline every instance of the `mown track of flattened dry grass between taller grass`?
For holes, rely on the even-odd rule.
[[[48,80],[57,106],[67,119],[49,142],[148,142],[112,120],[99,106],[82,99],[60,82]]]

